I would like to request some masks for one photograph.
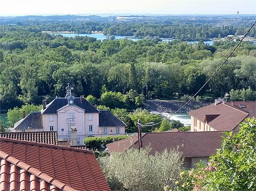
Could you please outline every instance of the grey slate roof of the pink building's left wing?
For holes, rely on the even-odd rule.
[[[43,120],[41,112],[31,112],[25,118],[22,118],[14,124],[14,129],[41,129],[43,128]]]

